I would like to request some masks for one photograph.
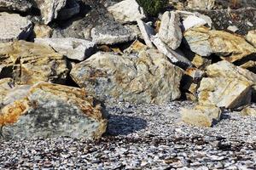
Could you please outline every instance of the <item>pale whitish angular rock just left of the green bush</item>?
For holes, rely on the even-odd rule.
[[[134,22],[137,19],[143,20],[146,15],[136,0],[124,0],[108,7],[108,12],[113,14],[113,18],[121,23]]]

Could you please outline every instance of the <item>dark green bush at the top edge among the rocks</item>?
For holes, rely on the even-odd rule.
[[[156,16],[160,10],[166,8],[168,0],[137,0],[137,3],[143,8],[149,16]]]

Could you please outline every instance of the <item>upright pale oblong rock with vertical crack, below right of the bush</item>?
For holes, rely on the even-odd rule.
[[[173,50],[180,46],[183,39],[179,14],[166,11],[161,19],[159,37]]]

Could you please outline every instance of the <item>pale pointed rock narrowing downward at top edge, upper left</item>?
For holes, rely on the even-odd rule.
[[[42,21],[48,25],[57,19],[58,12],[65,7],[67,0],[34,0],[34,3],[41,12]]]

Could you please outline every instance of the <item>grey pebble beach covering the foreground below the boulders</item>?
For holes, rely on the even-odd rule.
[[[99,140],[1,141],[1,169],[256,169],[256,117],[225,111],[213,127],[178,123],[182,106],[107,104]]]

